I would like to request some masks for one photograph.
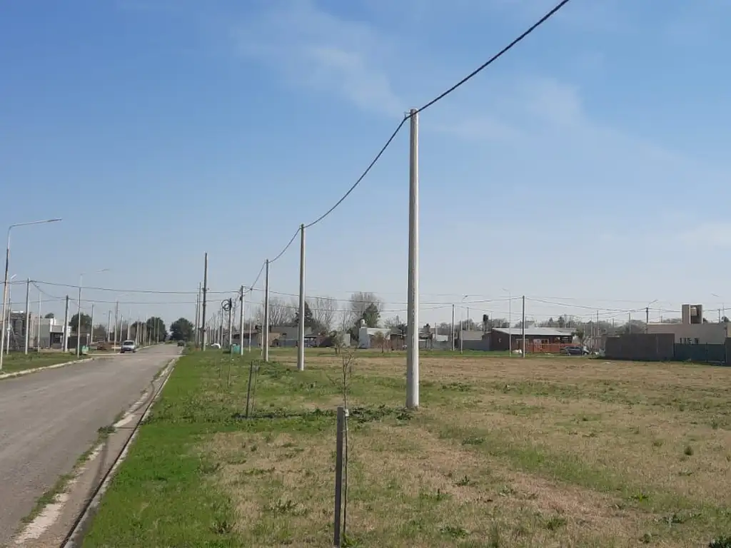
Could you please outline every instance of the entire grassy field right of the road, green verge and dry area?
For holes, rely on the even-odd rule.
[[[257,354],[258,356],[258,354]],[[84,547],[331,543],[341,357],[183,357]],[[709,545],[731,535],[731,368],[359,352],[349,546]],[[731,545],[731,544],[729,544]],[[726,546],[726,544],[719,544]]]

